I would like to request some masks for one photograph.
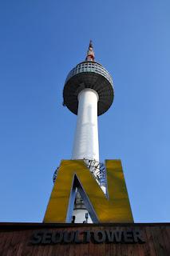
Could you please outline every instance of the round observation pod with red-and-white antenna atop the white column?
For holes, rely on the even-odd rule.
[[[89,43],[89,50],[85,62],[77,64],[71,70],[65,80],[63,90],[64,105],[74,114],[77,114],[77,96],[86,88],[97,91],[98,115],[104,114],[113,103],[113,79],[109,72],[97,62],[94,62],[92,42]]]

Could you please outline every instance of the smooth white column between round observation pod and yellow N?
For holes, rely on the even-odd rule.
[[[99,161],[97,126],[98,94],[84,89],[78,94],[77,127],[73,142],[72,159],[95,159]]]

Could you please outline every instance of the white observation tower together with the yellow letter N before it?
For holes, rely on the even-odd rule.
[[[121,160],[99,160],[97,116],[109,110],[113,97],[113,80],[94,61],[90,41],[85,62],[65,81],[63,104],[77,114],[73,153],[53,175],[43,222],[133,222]]]

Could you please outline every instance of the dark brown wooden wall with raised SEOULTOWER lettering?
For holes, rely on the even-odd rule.
[[[0,256],[170,256],[170,223],[0,223]]]

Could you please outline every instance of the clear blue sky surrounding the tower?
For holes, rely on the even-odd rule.
[[[1,1],[0,222],[42,222],[76,115],[66,75],[92,38],[115,98],[101,161],[121,158],[135,222],[170,222],[170,2]]]

